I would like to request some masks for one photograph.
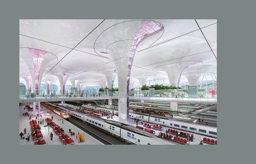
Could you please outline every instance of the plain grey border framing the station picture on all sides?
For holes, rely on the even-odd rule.
[[[0,163],[253,163],[255,6],[216,0],[1,1]],[[217,146],[19,145],[19,19],[103,18],[217,19]]]

